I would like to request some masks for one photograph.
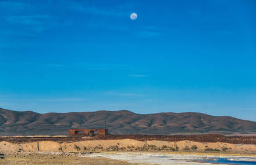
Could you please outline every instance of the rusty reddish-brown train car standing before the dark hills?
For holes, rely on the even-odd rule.
[[[69,135],[107,135],[108,129],[71,129]]]

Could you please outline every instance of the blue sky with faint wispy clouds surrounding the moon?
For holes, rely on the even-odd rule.
[[[0,107],[256,121],[256,1],[0,0]]]

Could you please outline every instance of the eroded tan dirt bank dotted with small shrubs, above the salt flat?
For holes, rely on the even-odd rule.
[[[74,142],[34,141],[15,144],[0,142],[0,153],[38,153],[38,152],[217,152],[256,154],[255,144],[229,144],[225,142],[194,141],[138,141],[123,140],[84,140]]]

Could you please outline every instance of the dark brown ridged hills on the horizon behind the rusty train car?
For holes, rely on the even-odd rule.
[[[108,128],[111,134],[256,131],[256,122],[203,113],[137,114],[130,111],[45,113],[0,108],[0,135],[67,135],[68,129]]]

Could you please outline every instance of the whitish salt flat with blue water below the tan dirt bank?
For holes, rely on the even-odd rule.
[[[129,163],[146,164],[213,164],[201,163],[204,160],[215,160],[225,158],[229,161],[248,161],[255,162],[254,156],[224,156],[224,155],[205,155],[205,154],[170,154],[170,153],[93,153],[82,155],[81,157],[105,157],[115,160],[123,160]],[[218,163],[218,162],[216,162]],[[219,164],[219,163],[218,163]]]

